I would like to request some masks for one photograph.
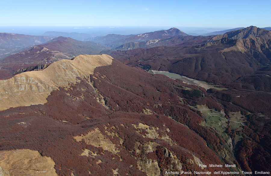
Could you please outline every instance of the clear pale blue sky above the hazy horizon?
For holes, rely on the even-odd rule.
[[[271,26],[270,0],[0,0],[0,4],[0,26]]]

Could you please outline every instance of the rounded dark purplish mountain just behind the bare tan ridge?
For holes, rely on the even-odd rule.
[[[72,38],[57,37],[30,50],[13,54],[2,60],[3,63],[41,64],[61,59],[72,59],[79,54],[98,54],[107,46],[92,41],[78,41]]]

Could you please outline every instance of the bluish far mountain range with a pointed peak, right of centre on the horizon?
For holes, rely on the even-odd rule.
[[[204,36],[225,34],[229,31],[243,29],[244,27],[238,27],[234,29],[216,31],[212,33],[204,34]],[[76,40],[93,41],[106,45],[111,50],[131,50],[136,48],[151,48],[155,46],[174,46],[188,41],[193,41],[194,44],[197,38],[202,37],[185,37],[189,36],[177,28],[171,28],[169,30],[160,30],[144,34],[136,35],[118,35],[108,34],[101,37],[89,37],[90,34],[79,34],[79,33],[64,33],[64,32],[46,32],[43,35],[57,37],[71,37]],[[89,37],[89,38],[88,38]],[[208,38],[208,37],[207,37]],[[190,43],[191,44],[191,43]]]

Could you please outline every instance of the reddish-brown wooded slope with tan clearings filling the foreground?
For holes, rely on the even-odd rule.
[[[235,162],[221,158],[229,147],[201,125],[201,113],[180,103],[179,97],[201,99],[204,89],[115,59],[77,79],[45,104],[0,111],[0,149],[38,151],[55,162],[58,175],[238,171],[199,167]]]

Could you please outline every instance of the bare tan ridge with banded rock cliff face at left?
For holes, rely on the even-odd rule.
[[[44,104],[46,98],[58,87],[75,84],[80,78],[89,78],[98,66],[112,62],[108,55],[79,55],[73,60],[60,60],[42,71],[23,72],[0,81],[0,110],[10,107]]]

